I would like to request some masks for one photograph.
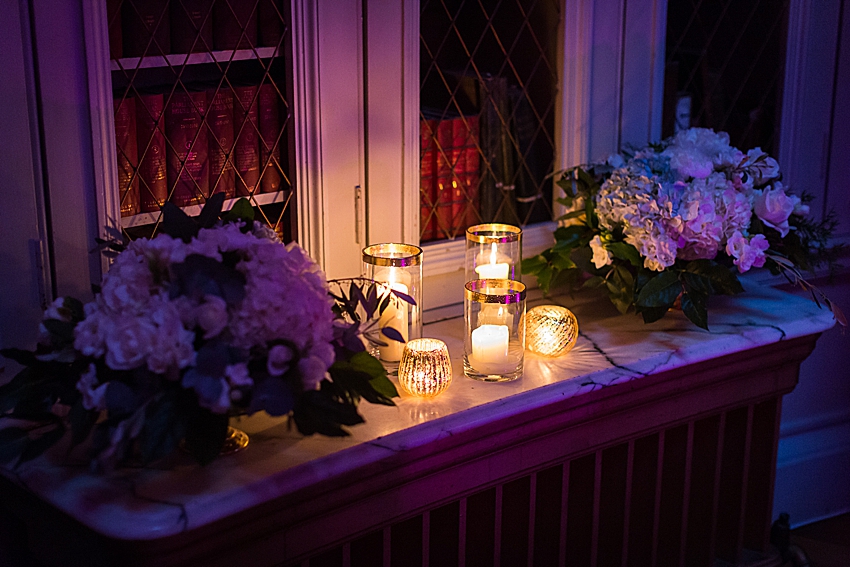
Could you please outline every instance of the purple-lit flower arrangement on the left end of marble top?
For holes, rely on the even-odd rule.
[[[197,219],[166,205],[156,237],[110,245],[120,253],[94,301],[57,299],[35,352],[2,351],[25,368],[0,388],[0,417],[16,423],[0,429],[0,462],[32,459],[70,429],[72,446],[91,438],[103,470],[178,446],[207,463],[234,415],[347,435],[361,397],[393,405],[356,312],[372,317],[390,299],[370,303],[368,281],[332,297],[303,249],[255,223],[245,200],[222,215],[223,200]]]

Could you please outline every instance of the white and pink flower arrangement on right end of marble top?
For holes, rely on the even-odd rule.
[[[544,293],[558,283],[602,288],[620,312],[649,323],[681,306],[708,329],[712,294],[743,291],[737,273],[767,267],[837,306],[801,270],[834,261],[830,215],[813,222],[810,197],[782,184],[779,165],[759,148],[746,154],[729,136],[691,128],[635,152],[561,172],[558,201],[570,209],[556,243],[522,263]]]

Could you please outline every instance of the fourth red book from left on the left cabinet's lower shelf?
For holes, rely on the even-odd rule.
[[[233,153],[233,93],[223,87],[217,93],[208,92],[210,111],[209,156],[211,193],[224,193],[228,199],[236,195],[236,172],[231,161]]]

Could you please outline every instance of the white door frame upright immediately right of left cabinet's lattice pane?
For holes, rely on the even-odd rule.
[[[354,214],[355,188],[363,184],[360,3],[296,1],[293,12],[300,240],[328,277],[355,276],[362,248]]]

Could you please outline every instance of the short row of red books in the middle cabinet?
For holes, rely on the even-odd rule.
[[[420,122],[420,239],[453,238],[478,222],[478,116]]]

